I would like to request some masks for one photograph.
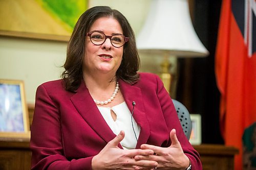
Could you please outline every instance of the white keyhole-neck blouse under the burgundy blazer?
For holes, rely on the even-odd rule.
[[[113,107],[99,107],[98,109],[114,134],[124,131],[124,139],[120,142],[123,149],[135,149],[140,134],[140,127],[135,122],[125,102]],[[111,116],[111,110],[116,114],[116,121]],[[132,118],[132,119],[131,119]],[[133,121],[133,126],[132,126]],[[134,128],[134,130],[133,130]],[[136,136],[135,136],[135,134]],[[137,139],[136,139],[137,137]]]

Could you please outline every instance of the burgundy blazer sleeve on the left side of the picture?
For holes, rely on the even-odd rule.
[[[35,111],[31,126],[31,169],[92,169],[93,157],[67,160],[62,145],[61,116],[57,102],[44,85],[36,91]]]

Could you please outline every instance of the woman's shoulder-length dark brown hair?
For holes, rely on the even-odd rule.
[[[106,6],[97,6],[84,12],[76,22],[74,31],[67,47],[67,59],[63,67],[62,79],[68,91],[75,91],[79,87],[82,76],[82,61],[85,52],[85,37],[94,21],[100,17],[111,17],[116,19],[123,30],[123,35],[130,40],[123,46],[123,58],[116,72],[116,78],[133,84],[138,81],[137,71],[140,59],[136,48],[135,35],[127,19],[117,10]]]

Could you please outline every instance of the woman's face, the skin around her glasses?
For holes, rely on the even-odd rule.
[[[116,19],[101,17],[95,20],[89,33],[103,32],[106,36],[123,34],[122,28]],[[95,45],[90,37],[86,37],[85,55],[83,60],[83,74],[110,74],[114,76],[122,61],[123,46],[114,47],[109,38],[101,45]]]

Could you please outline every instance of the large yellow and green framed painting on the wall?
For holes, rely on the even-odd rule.
[[[87,1],[0,1],[0,35],[68,41]]]

